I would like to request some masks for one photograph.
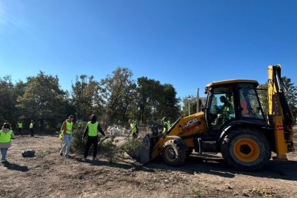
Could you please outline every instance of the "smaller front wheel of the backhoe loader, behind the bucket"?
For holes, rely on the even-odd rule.
[[[177,141],[166,141],[163,146],[162,156],[167,165],[180,166],[185,162],[187,151]]]

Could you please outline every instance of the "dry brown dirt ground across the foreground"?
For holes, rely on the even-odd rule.
[[[0,165],[0,197],[297,197],[297,152],[248,173],[228,168],[219,155],[193,154],[180,168],[161,159],[141,166],[99,156],[83,163],[82,156],[59,156],[60,146],[57,136],[17,136],[10,164]],[[21,156],[28,148],[37,151],[34,158]]]

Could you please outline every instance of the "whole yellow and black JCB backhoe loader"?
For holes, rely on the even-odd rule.
[[[215,81],[205,87],[206,105],[201,112],[180,117],[169,129],[151,121],[151,133],[133,154],[140,163],[162,156],[179,166],[192,151],[221,153],[236,170],[260,170],[276,153],[286,160],[294,151],[293,115],[281,81],[281,66],[268,66],[268,106],[264,115],[253,80]],[[165,127],[165,133],[160,132]]]

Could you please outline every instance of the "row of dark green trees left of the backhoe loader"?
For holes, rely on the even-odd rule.
[[[133,72],[117,68],[99,81],[94,76],[76,76],[71,91],[59,85],[58,76],[40,71],[26,81],[13,83],[11,76],[0,78],[0,123],[34,120],[40,129],[57,126],[68,115],[88,120],[95,114],[107,125],[126,124],[129,119],[175,120],[180,116],[180,98],[175,88]]]

